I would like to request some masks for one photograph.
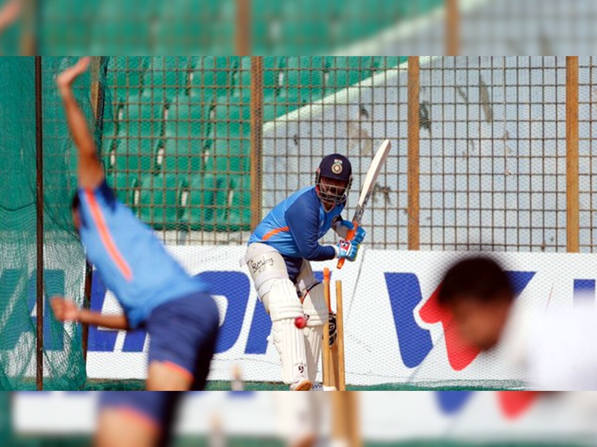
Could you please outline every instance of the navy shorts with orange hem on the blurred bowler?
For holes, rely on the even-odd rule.
[[[193,380],[193,390],[203,390],[216,350],[220,316],[216,302],[195,293],[158,306],[147,318],[147,361],[162,362]]]

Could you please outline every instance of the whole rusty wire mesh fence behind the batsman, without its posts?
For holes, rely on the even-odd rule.
[[[411,110],[420,126],[420,249],[565,251],[566,58],[419,61]],[[352,215],[374,151],[389,138],[394,148],[364,217],[366,244],[407,248],[407,58],[259,63],[256,91],[249,57],[109,58],[101,151],[119,197],[170,243],[242,244],[251,216],[312,184],[328,153],[353,163]],[[583,250],[592,247],[592,76],[592,59],[581,58]],[[256,126],[263,134],[251,145]],[[251,193],[256,166],[261,197]]]

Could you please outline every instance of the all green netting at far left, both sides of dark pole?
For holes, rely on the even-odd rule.
[[[82,305],[84,253],[72,226],[75,156],[55,76],[73,60],[42,58],[44,162],[44,388],[85,381],[80,327],[63,325],[48,298]],[[0,58],[0,389],[35,389],[36,120],[34,58]],[[76,96],[91,118],[90,76]]]

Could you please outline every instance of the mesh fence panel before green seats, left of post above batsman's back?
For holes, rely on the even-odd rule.
[[[117,194],[164,240],[248,230],[250,58],[110,58],[102,157]]]

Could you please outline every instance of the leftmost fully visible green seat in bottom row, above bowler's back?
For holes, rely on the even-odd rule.
[[[141,180],[140,217],[154,229],[177,229],[183,224],[181,203],[186,180],[181,176],[159,172]]]

